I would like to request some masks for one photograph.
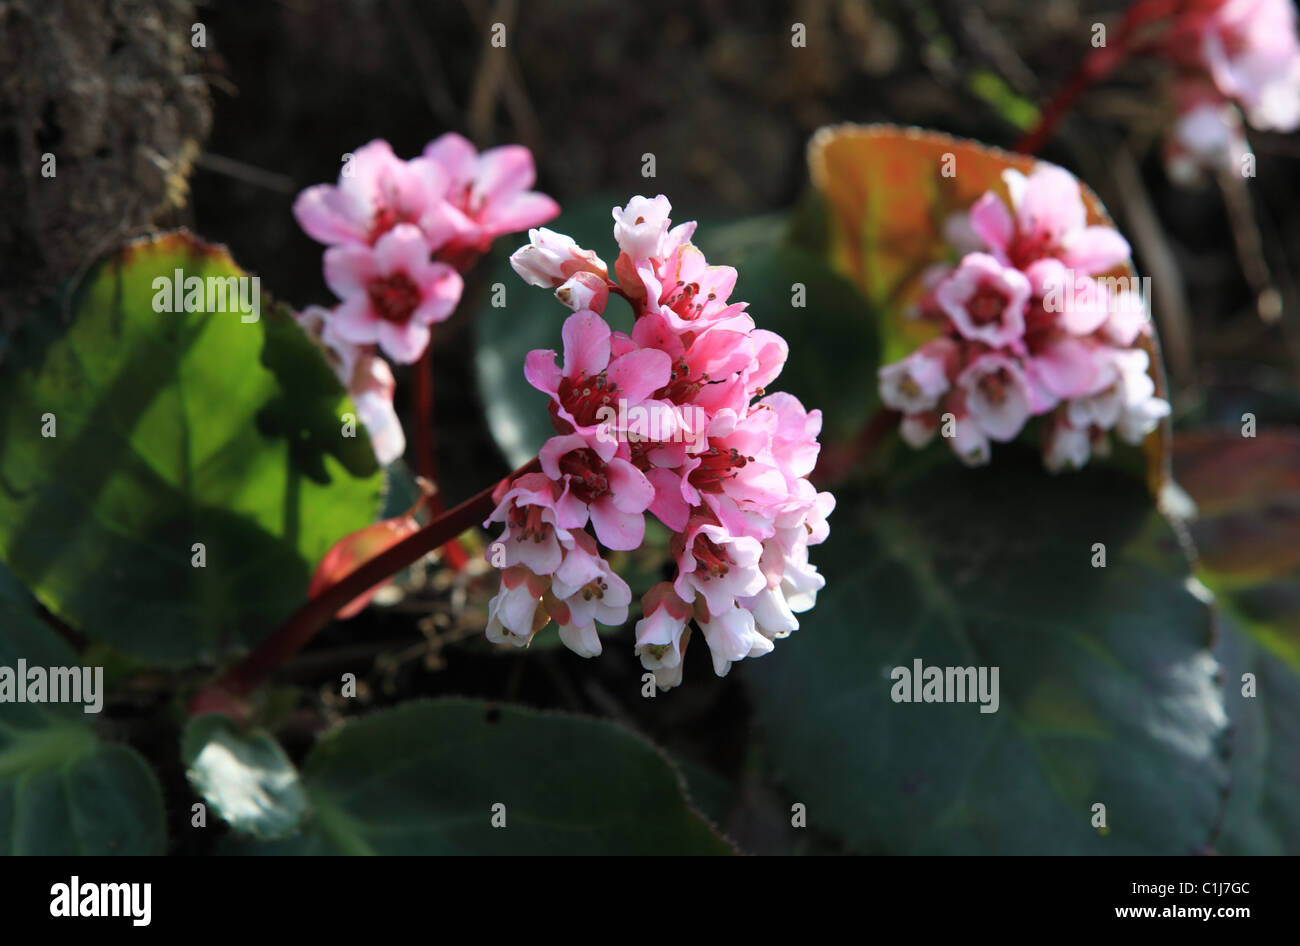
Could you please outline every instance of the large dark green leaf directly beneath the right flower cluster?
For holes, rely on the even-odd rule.
[[[1135,477],[1050,478],[1009,447],[978,470],[916,460],[840,500],[816,607],[744,668],[811,828],[888,854],[1209,842],[1226,782],[1210,613]],[[997,667],[997,711],[894,702],[915,660]]]

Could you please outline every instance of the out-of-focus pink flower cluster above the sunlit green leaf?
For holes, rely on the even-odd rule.
[[[328,352],[356,402],[376,455],[390,463],[406,438],[393,411],[393,372],[420,359],[430,329],[460,301],[460,274],[502,234],[546,222],[559,208],[533,186],[521,146],[481,155],[458,134],[403,161],[374,140],[347,157],[338,185],[308,187],[294,216],[325,251],[333,309],[311,307],[299,322]]]

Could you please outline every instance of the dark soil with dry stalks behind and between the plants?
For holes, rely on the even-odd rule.
[[[321,247],[298,229],[290,207],[302,188],[333,182],[342,155],[373,138],[407,157],[447,130],[480,147],[524,143],[537,157],[538,187],[562,205],[595,192],[664,192],[677,220],[780,211],[805,195],[803,148],[826,123],[922,125],[1009,147],[1022,130],[1014,103],[1044,103],[1087,53],[1091,25],[1114,22],[1123,6],[231,0],[195,10],[166,0],[0,0],[0,248],[10,274],[0,283],[9,300],[0,311],[47,291],[56,274],[74,274],[105,239],[151,222],[228,244],[298,308],[329,303]],[[51,45],[60,16],[83,25],[79,48]],[[205,48],[176,43],[194,22],[205,27]],[[504,49],[489,45],[497,22],[506,25]],[[790,44],[796,22],[806,26],[806,48]],[[116,77],[113,94],[99,104],[78,97],[62,65],[69,57],[84,74]],[[1300,365],[1300,146],[1252,134],[1254,181],[1174,187],[1160,153],[1170,117],[1166,73],[1147,62],[1122,68],[1084,97],[1044,157],[1098,192],[1134,243],[1139,272],[1153,277],[1175,413],[1188,424],[1217,416],[1243,387],[1296,382],[1288,365]],[[27,172],[34,153],[69,139],[78,142],[69,161],[99,162],[98,177],[86,175],[94,200],[48,208]],[[160,160],[139,165],[146,147]],[[646,152],[655,155],[654,181],[641,177]],[[169,194],[190,169],[188,200],[177,208]],[[498,249],[517,243],[507,238]],[[464,303],[436,338],[448,503],[508,472],[472,373],[472,313],[486,270],[485,261],[471,273]],[[403,381],[399,373],[399,408]],[[313,694],[277,697],[290,752],[306,751],[339,715],[416,695],[589,712],[624,721],[685,760],[693,791],[711,799],[705,807],[744,850],[822,850],[816,839],[790,837],[788,803],[763,760],[746,755],[751,717],[738,674],[715,678],[699,652],[684,686],[642,699],[630,626],[592,661],[563,648],[493,654],[481,642],[491,585],[491,576],[434,569],[410,577],[410,594],[393,607],[322,633],[280,677]],[[364,699],[350,706],[333,697],[343,672],[365,685]],[[151,758],[176,769],[172,747],[157,748]],[[188,798],[182,773],[169,772]]]

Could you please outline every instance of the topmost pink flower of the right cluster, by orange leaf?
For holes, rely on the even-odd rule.
[[[971,229],[1004,264],[1024,270],[1050,256],[1095,275],[1128,259],[1128,242],[1118,231],[1088,226],[1079,182],[1069,172],[1040,164],[1028,177],[1005,170],[1002,181],[1013,209],[989,191],[971,208]]]

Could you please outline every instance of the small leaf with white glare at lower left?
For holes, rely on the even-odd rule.
[[[239,732],[226,716],[198,716],[185,728],[181,758],[190,785],[235,830],[282,838],[307,815],[298,769],[261,729]]]

